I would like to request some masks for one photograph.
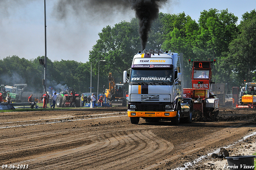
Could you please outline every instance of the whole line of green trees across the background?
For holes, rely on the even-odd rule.
[[[213,66],[213,81],[226,84],[227,93],[232,86],[255,82],[256,77],[256,11],[238,17],[226,10],[210,9],[201,12],[196,22],[186,14],[160,13],[153,22],[146,48],[162,48],[183,53],[185,86],[190,88],[190,71],[194,61],[216,59]],[[98,66],[99,92],[108,88],[108,73],[122,82],[122,72],[130,68],[132,58],[141,49],[138,20],[122,21],[113,27],[102,28],[99,39],[90,51],[86,63],[74,60],[47,60],[48,86],[73,87],[77,92],[90,92],[92,64],[92,92],[97,91]],[[38,56],[27,60],[9,56],[0,60],[0,83],[5,85],[26,83],[31,91],[42,91],[43,66]],[[103,86],[106,85],[104,88]],[[30,91],[30,90],[28,90]]]

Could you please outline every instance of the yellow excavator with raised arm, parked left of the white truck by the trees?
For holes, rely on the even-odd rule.
[[[108,73],[109,88],[105,90],[106,98],[112,105],[126,106],[126,95],[124,84],[116,84],[116,79],[112,73]]]

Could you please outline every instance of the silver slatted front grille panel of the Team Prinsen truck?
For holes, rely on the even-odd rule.
[[[170,94],[131,94],[130,102],[170,102]]]

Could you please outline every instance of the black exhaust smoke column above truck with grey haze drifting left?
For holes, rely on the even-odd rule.
[[[122,14],[132,9],[139,20],[139,34],[142,50],[146,47],[148,33],[154,19],[158,18],[159,8],[168,0],[59,0],[56,14],[60,19],[66,18],[70,8],[76,15],[85,11],[87,17],[111,18],[116,12]]]

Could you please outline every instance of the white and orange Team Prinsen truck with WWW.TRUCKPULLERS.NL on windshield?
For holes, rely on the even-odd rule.
[[[140,118],[146,122],[181,119],[192,122],[193,101],[183,98],[182,54],[171,51],[144,50],[135,54],[130,74],[124,71],[123,82],[129,83],[128,117],[132,124]]]

